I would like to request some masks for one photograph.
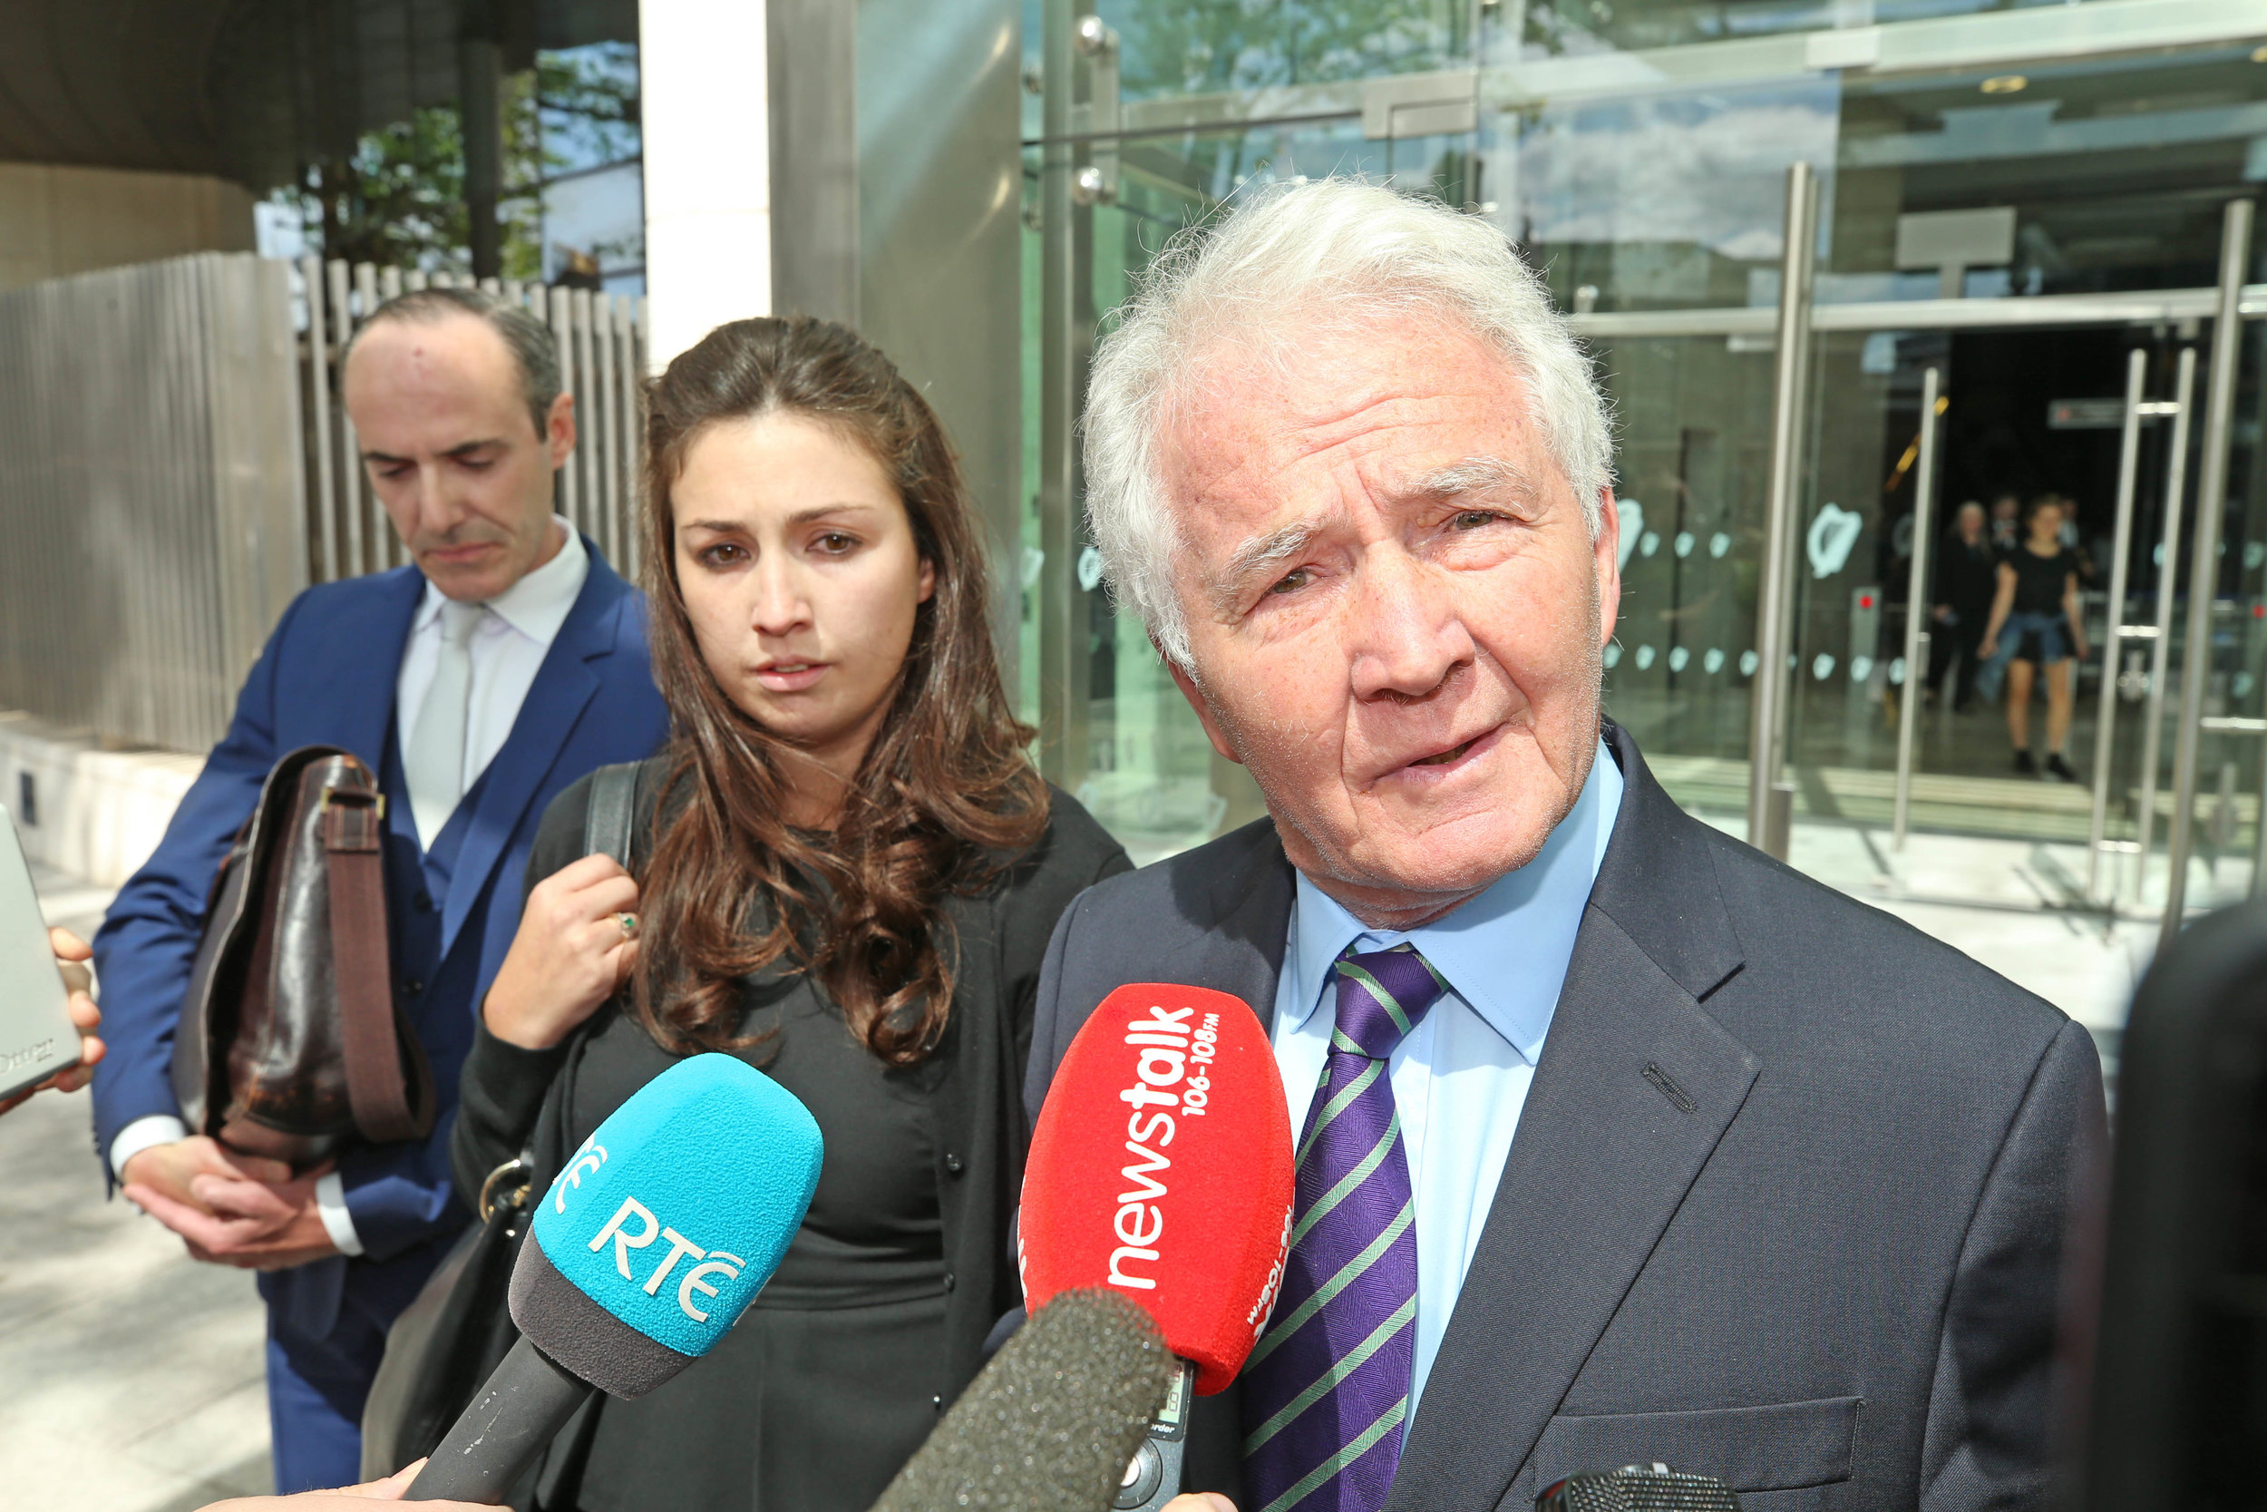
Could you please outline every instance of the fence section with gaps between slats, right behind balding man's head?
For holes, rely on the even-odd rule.
[[[295,267],[302,394],[308,413],[308,580],[336,583],[401,567],[408,555],[370,492],[340,401],[338,356],[374,308],[419,288],[472,288],[453,274],[404,272],[370,263],[299,258]],[[637,571],[637,458],[646,372],[646,301],[630,295],[481,283],[533,311],[560,347],[560,379],[576,401],[576,449],[560,469],[560,512],[623,574]],[[320,342],[313,333],[320,333]]]

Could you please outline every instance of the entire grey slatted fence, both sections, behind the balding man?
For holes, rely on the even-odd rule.
[[[338,356],[440,281],[206,252],[0,295],[0,707],[206,750],[292,594],[401,567]],[[635,571],[644,299],[490,290],[558,335],[558,508]]]

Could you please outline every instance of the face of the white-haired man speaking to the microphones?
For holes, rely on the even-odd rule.
[[[1165,438],[1181,691],[1292,864],[1410,927],[1526,866],[1589,778],[1621,594],[1503,356],[1426,315],[1217,356]]]

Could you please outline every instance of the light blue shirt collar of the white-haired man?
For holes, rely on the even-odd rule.
[[[1283,968],[1292,975],[1290,1006],[1304,1025],[1324,1000],[1331,966],[1347,950],[1385,950],[1403,941],[1417,945],[1455,995],[1532,1065],[1582,927],[1589,889],[1598,880],[1605,843],[1621,812],[1621,766],[1605,741],[1591,757],[1589,778],[1573,809],[1557,823],[1542,852],[1519,870],[1501,875],[1485,893],[1446,918],[1419,929],[1372,929],[1335,898],[1299,873],[1292,902],[1290,950]],[[1517,970],[1510,961],[1557,970]]]

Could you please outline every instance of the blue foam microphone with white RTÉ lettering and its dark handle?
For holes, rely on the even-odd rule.
[[[780,1267],[821,1152],[809,1108],[735,1056],[639,1088],[535,1206],[519,1342],[404,1501],[499,1505],[592,1390],[642,1396],[705,1356]]]

